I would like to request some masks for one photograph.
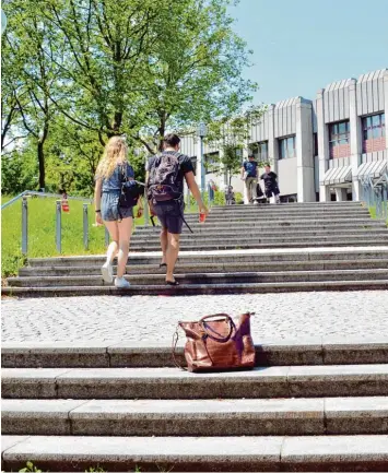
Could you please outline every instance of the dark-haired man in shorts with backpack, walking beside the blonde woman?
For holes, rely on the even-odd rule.
[[[202,202],[191,159],[179,153],[179,137],[167,134],[163,140],[163,147],[161,155],[150,157],[145,167],[145,182],[150,206],[162,225],[163,258],[160,265],[166,267],[166,284],[176,286],[178,282],[175,280],[174,270],[184,224],[184,178],[198,203],[199,212],[208,215],[209,211]]]

